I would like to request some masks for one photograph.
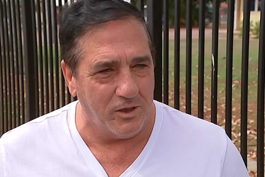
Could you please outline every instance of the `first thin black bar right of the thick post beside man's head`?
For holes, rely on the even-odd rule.
[[[168,104],[168,0],[164,0],[164,103]]]

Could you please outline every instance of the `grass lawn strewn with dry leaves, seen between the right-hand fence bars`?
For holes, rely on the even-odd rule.
[[[248,156],[256,158],[257,81],[259,40],[251,39],[248,72]],[[192,40],[192,115],[198,115],[199,40]],[[204,119],[211,120],[212,39],[205,39]],[[242,39],[235,38],[232,81],[232,140],[240,149]],[[180,110],[185,112],[186,40],[180,44]],[[218,51],[218,125],[225,126],[226,39],[219,39]],[[169,105],[174,106],[174,40],[169,41]]]

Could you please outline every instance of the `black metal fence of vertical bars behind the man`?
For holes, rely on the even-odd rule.
[[[58,14],[67,0],[0,0],[0,135],[40,115],[70,103],[73,98],[64,82],[60,68],[60,46],[58,44]],[[186,0],[185,58],[186,69],[181,72],[183,28],[181,22],[181,2],[174,0],[173,39],[169,30],[169,0],[132,1],[144,13],[147,6],[147,19],[150,34],[156,46],[155,99],[172,107],[181,109],[183,88],[181,79],[185,78],[184,108],[192,114],[192,94],[197,91],[197,116],[205,113],[205,72],[210,70],[211,97],[210,120],[218,123],[218,61],[219,58],[219,0],[213,0],[213,22],[211,29],[210,68],[205,68],[206,28],[205,0],[199,1],[198,66],[194,67],[192,0]],[[241,63],[241,108],[240,113],[240,152],[247,165],[248,138],[248,73],[250,47],[250,0],[242,0],[243,38]],[[161,8],[163,7],[163,8]],[[225,129],[232,138],[232,89],[234,59],[234,10],[235,0],[228,0],[226,32],[226,74],[225,74]],[[264,176],[264,74],[265,74],[265,1],[261,0],[258,52],[258,84],[256,114],[256,148],[258,176]],[[165,20],[162,22],[162,18]],[[209,31],[209,30],[208,30]],[[173,45],[172,45],[173,44]],[[172,49],[173,47],[173,49]],[[223,47],[223,46],[221,46]],[[172,59],[173,58],[173,59]],[[172,61],[171,61],[172,60]],[[173,66],[170,70],[169,66]],[[196,85],[193,85],[192,72],[197,70]],[[170,78],[173,75],[173,78]],[[170,85],[173,80],[173,85]],[[173,95],[173,96],[172,96]]]

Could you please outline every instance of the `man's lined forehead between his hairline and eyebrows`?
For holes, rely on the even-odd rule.
[[[135,30],[131,29],[132,26],[135,26]],[[144,26],[136,19],[117,20],[105,23],[101,27],[97,26],[79,38],[78,44],[82,53],[88,55],[85,58],[91,58],[86,61],[90,64],[101,58],[125,58],[128,62],[131,57],[137,57],[138,54],[146,55],[150,52]]]

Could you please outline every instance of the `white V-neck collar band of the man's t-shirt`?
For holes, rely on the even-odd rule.
[[[92,151],[90,151],[89,147],[87,147],[86,143],[82,139],[81,135],[79,134],[76,123],[75,123],[75,115],[76,115],[76,106],[79,101],[73,102],[70,111],[69,111],[69,131],[72,135],[73,141],[77,145],[79,151],[83,154],[85,159],[87,160],[87,164],[94,170],[95,174],[100,177],[108,177],[105,169],[101,166],[98,162],[96,157],[93,155]],[[119,176],[119,177],[130,177],[132,176],[145,162],[148,158],[152,148],[156,142],[157,136],[159,135],[160,128],[162,125],[162,108],[160,104],[153,100],[155,107],[156,107],[156,118],[152,133],[146,143],[144,149],[140,153],[140,155],[136,158],[136,160]]]

